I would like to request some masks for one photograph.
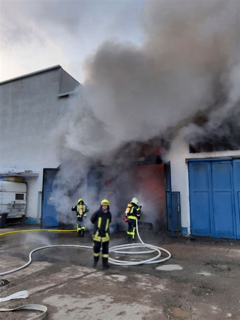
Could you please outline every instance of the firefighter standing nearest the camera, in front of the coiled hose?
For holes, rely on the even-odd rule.
[[[97,210],[91,217],[91,222],[94,224],[93,233],[93,267],[97,266],[101,244],[102,244],[102,264],[103,268],[109,268],[108,264],[108,246],[109,246],[109,223],[111,222],[112,215],[109,211],[109,201],[103,199],[100,204],[99,210]]]

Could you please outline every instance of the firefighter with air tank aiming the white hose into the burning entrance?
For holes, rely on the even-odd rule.
[[[127,234],[130,235],[130,238],[134,241],[135,231],[136,231],[136,219],[140,219],[141,214],[140,204],[138,203],[138,199],[136,197],[132,198],[132,202],[128,204],[127,209],[125,211],[125,221],[128,222],[128,231]]]

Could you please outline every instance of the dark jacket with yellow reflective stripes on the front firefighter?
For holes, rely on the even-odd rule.
[[[109,241],[109,223],[112,215],[109,210],[104,212],[102,208],[97,210],[91,217],[91,222],[94,224],[93,240],[98,242]]]

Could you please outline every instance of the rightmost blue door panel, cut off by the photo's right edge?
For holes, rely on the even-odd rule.
[[[233,160],[236,237],[240,239],[240,159]]]

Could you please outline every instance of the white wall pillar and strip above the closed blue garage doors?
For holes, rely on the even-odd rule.
[[[240,156],[240,150],[189,153],[188,143],[177,137],[166,156],[171,161],[172,190],[180,191],[182,233],[190,234],[188,164],[186,159]]]

